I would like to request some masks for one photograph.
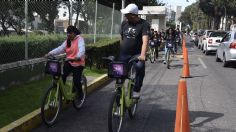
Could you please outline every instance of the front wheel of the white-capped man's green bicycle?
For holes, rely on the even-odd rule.
[[[108,109],[108,130],[109,132],[120,132],[123,123],[120,107],[120,94],[113,93]]]

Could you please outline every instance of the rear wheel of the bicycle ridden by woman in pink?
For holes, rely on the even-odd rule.
[[[78,97],[79,94],[77,94],[75,99],[73,100],[73,106],[77,110],[81,109],[81,107],[83,106],[83,104],[85,102],[86,95],[87,95],[87,78],[84,75],[82,75],[82,77],[81,77],[81,84],[82,84],[82,92],[83,92],[84,96],[81,99],[80,97]]]

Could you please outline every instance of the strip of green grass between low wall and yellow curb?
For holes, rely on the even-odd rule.
[[[86,76],[98,77],[106,70],[85,69]],[[0,128],[38,109],[41,99],[51,84],[51,77],[15,85],[0,92]]]

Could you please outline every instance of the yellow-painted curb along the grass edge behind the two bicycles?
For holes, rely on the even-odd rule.
[[[103,86],[111,79],[108,78],[107,74],[104,74],[93,81],[88,83],[88,95],[99,89],[99,87]],[[42,123],[41,119],[41,110],[40,108],[23,116],[22,118],[0,128],[0,132],[21,132],[21,131],[30,131]]]

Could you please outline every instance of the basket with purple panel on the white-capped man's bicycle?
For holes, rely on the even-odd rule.
[[[108,66],[108,77],[110,78],[127,78],[128,70],[124,62],[111,62]]]

